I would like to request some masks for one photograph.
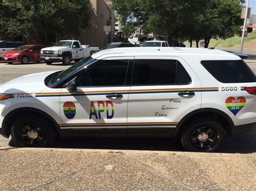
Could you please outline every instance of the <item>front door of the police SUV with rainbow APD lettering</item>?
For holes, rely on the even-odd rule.
[[[76,93],[70,95],[67,89],[62,89],[60,112],[63,124],[60,127],[70,136],[81,133],[126,136],[129,59],[100,60],[77,77]]]

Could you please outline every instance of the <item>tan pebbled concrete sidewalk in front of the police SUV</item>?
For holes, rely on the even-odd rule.
[[[255,189],[256,155],[1,148],[1,190]]]

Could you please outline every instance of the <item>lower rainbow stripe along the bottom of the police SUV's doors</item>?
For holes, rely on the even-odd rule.
[[[62,129],[93,128],[93,127],[114,127],[114,126],[170,126],[175,127],[178,122],[148,122],[148,123],[68,123],[59,124]]]

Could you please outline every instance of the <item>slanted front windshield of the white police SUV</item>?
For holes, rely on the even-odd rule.
[[[75,65],[71,66],[70,68],[53,76],[52,79],[48,82],[47,86],[52,87],[54,84],[58,83],[59,81],[69,78],[71,75],[75,74],[77,71],[86,67],[93,61],[95,61],[95,59],[91,58],[91,56],[88,56],[86,59],[83,59],[77,62]]]

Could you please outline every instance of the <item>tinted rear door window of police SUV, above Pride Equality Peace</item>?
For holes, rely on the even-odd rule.
[[[136,60],[133,85],[188,84],[191,78],[178,60]]]

